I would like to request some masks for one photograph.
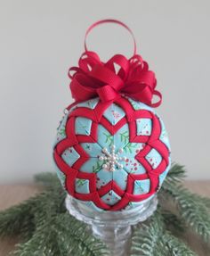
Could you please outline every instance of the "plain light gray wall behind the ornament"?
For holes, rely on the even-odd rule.
[[[72,102],[67,70],[83,52],[85,29],[104,18],[133,29],[157,74],[173,160],[191,179],[210,178],[209,1],[0,0],[0,183],[53,169],[55,131]],[[115,25],[95,29],[88,44],[104,61],[132,53],[127,32]]]

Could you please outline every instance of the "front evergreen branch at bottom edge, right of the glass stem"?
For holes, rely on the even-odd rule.
[[[167,230],[164,217],[166,216],[158,210],[148,221],[133,227],[131,256],[196,255],[187,244],[184,244]]]

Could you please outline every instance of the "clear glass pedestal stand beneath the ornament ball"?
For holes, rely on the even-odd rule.
[[[108,245],[110,256],[127,256],[130,246],[131,226],[149,218],[156,211],[158,199],[142,202],[136,208],[126,211],[95,211],[69,194],[66,207],[76,219],[91,225],[93,235]]]

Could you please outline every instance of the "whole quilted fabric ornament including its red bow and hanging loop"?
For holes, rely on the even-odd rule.
[[[128,29],[106,20],[87,33],[109,21]],[[85,46],[69,77],[76,102],[66,109],[53,148],[62,185],[96,211],[125,211],[151,199],[170,169],[170,145],[152,109],[162,98],[155,74],[135,54],[135,42],[132,58],[116,54],[108,62]]]

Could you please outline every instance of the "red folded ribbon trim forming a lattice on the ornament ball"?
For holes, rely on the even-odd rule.
[[[66,188],[69,194],[75,196],[79,200],[92,201],[97,207],[109,210],[109,211],[119,211],[129,203],[129,202],[141,202],[149,198],[154,194],[158,189],[158,177],[161,173],[166,170],[166,167],[169,164],[168,156],[169,151],[166,145],[159,139],[161,134],[161,123],[158,119],[158,116],[151,111],[139,110],[135,111],[132,104],[125,98],[119,97],[114,103],[119,107],[123,108],[125,111],[125,117],[117,122],[113,126],[109,120],[107,120],[103,113],[109,107],[113,101],[97,103],[93,110],[90,110],[85,107],[77,107],[75,110],[70,112],[69,120],[66,124],[66,133],[67,138],[61,140],[55,148],[53,157],[58,165],[58,168],[66,175]],[[75,120],[77,117],[84,117],[92,120],[91,134],[90,136],[85,135],[76,135],[75,134]],[[152,121],[152,130],[150,136],[140,136],[137,135],[137,124],[136,119],[147,118]],[[96,187],[96,178],[95,173],[86,173],[79,170],[82,165],[90,159],[90,156],[85,152],[79,143],[97,143],[98,141],[98,126],[101,125],[106,128],[111,135],[117,133],[117,130],[122,128],[126,123],[129,127],[129,142],[130,143],[144,143],[144,148],[135,155],[135,159],[141,163],[141,165],[146,169],[145,174],[133,174],[129,173],[127,177],[127,185],[125,191],[122,190],[117,183],[112,180],[105,186],[101,186],[100,189]],[[62,160],[61,154],[69,147],[73,146],[77,153],[81,156],[72,167]],[[147,154],[151,149],[156,149],[158,153],[162,156],[162,161],[159,163],[158,167],[153,169],[152,165],[146,159]],[[78,169],[78,170],[77,170]],[[84,178],[89,180],[89,189],[90,194],[80,194],[75,192],[75,181],[76,178]],[[135,180],[143,180],[149,178],[150,180],[150,189],[149,193],[136,195],[133,194],[133,187]],[[116,194],[121,197],[121,200],[115,205],[110,206],[105,202],[102,202],[101,196],[109,193],[110,190],[113,190]]]

